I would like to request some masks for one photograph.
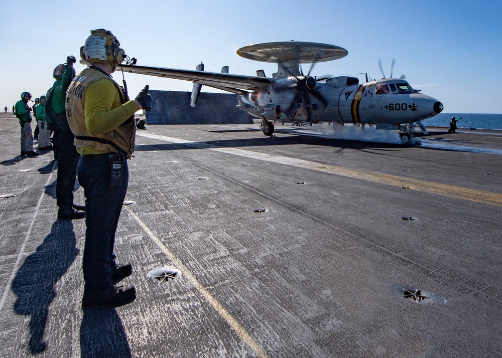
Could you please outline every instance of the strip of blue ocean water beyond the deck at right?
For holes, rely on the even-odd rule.
[[[458,119],[457,128],[498,129],[502,130],[502,114],[483,113],[439,113],[437,116],[426,119],[426,126],[449,127],[451,117]]]

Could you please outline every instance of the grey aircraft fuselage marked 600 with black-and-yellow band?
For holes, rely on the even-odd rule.
[[[336,77],[326,83],[317,83],[316,91],[326,100],[328,107],[313,98],[310,106],[314,122],[412,123],[433,117],[443,110],[441,102],[413,90],[402,79],[357,82],[354,77]],[[306,104],[301,100],[292,115],[283,113],[295,101],[294,91],[276,91],[271,85],[260,92],[239,97],[238,107],[258,118],[294,122],[307,121],[308,118]]]

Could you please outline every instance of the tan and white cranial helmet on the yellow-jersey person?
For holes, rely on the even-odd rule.
[[[126,52],[111,32],[104,29],[92,30],[91,35],[80,48],[80,58],[87,63],[122,63]]]

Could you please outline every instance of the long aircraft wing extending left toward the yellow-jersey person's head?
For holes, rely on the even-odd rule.
[[[273,81],[272,79],[267,77],[232,75],[228,73],[196,70],[181,70],[166,67],[138,65],[121,65],[121,67],[124,72],[190,81],[233,93],[245,93],[244,90],[254,91],[257,88],[267,87],[268,85],[272,84]]]

